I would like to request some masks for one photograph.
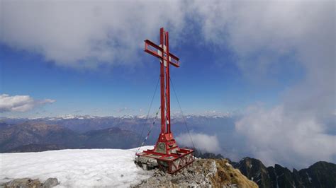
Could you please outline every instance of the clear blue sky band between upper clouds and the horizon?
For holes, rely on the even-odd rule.
[[[170,32],[174,37],[174,30]],[[157,42],[157,38],[151,40]],[[141,61],[134,61],[131,67],[120,65],[78,70],[57,66],[40,54],[6,44],[2,44],[0,49],[1,93],[56,100],[31,112],[6,113],[9,116],[144,114],[159,76],[158,60],[145,52],[140,53]],[[171,69],[172,81],[181,105],[188,113],[233,112],[254,102],[274,105],[279,92],[301,78],[298,76],[300,70],[291,72],[284,69],[278,73],[278,78],[271,78],[271,84],[249,81],[235,65],[233,52],[213,52],[207,46],[197,46],[196,41],[188,37],[181,46],[171,50],[181,58],[181,67]],[[284,58],[284,61],[290,60]],[[159,93],[155,100],[159,105]],[[176,104],[173,105],[173,109],[178,110]],[[130,110],[118,112],[123,108]]]

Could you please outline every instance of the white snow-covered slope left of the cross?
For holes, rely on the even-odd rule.
[[[141,150],[153,148],[144,146]],[[73,149],[38,153],[0,153],[0,183],[14,178],[47,180],[58,187],[128,187],[150,177],[133,162],[138,148]]]

